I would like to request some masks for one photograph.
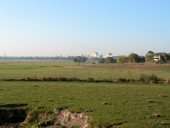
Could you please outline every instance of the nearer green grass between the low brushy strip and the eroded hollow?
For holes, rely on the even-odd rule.
[[[91,124],[101,127],[113,124],[114,127],[170,127],[168,85],[0,82],[0,89],[1,105],[28,103],[37,107],[68,108],[85,112],[91,117]],[[155,102],[148,103],[148,99]],[[154,117],[154,113],[161,117]]]

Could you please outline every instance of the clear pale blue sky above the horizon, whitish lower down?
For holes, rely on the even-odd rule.
[[[170,0],[0,0],[0,56],[170,52]]]

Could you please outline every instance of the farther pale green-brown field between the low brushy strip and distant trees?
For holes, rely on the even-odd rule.
[[[71,61],[1,61],[0,78],[77,77],[86,79],[139,78],[141,74],[170,78],[170,65],[154,64],[75,64]]]

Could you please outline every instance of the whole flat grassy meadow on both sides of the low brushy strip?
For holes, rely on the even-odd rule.
[[[0,79],[136,79],[141,74],[154,74],[166,80],[170,77],[170,65],[77,64],[71,61],[0,62]],[[71,112],[84,112],[89,116],[90,127],[168,128],[169,92],[169,84],[0,81],[0,108],[7,104],[28,104],[29,107],[46,110],[67,108]]]

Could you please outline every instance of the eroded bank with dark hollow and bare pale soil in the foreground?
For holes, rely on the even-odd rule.
[[[45,111],[44,107],[29,108],[27,104],[0,105],[0,127],[87,128],[88,116],[68,109]]]

